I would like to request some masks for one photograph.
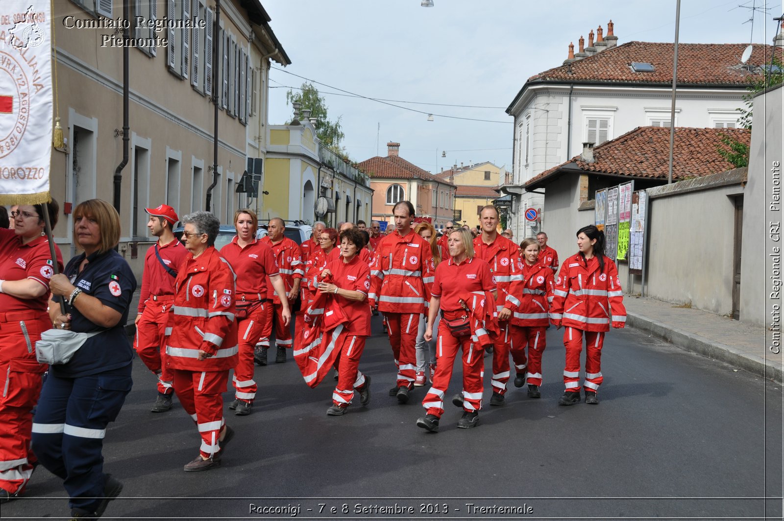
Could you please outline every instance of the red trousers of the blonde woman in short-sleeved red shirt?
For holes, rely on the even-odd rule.
[[[444,414],[444,393],[452,380],[452,369],[459,348],[463,348],[463,410],[474,412],[482,408],[483,367],[485,349],[471,341],[471,337],[456,338],[441,321],[436,340],[436,373],[433,386],[427,391],[422,406],[427,414]]]

